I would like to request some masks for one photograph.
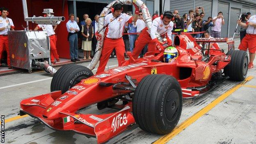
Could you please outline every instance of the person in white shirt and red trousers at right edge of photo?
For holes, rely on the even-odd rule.
[[[249,64],[248,69],[252,69],[254,67],[253,61],[255,58],[256,51],[256,15],[253,15],[249,18],[246,23],[242,23],[241,20],[237,21],[238,25],[246,28],[246,35],[242,39],[238,49],[247,51],[249,50]]]

